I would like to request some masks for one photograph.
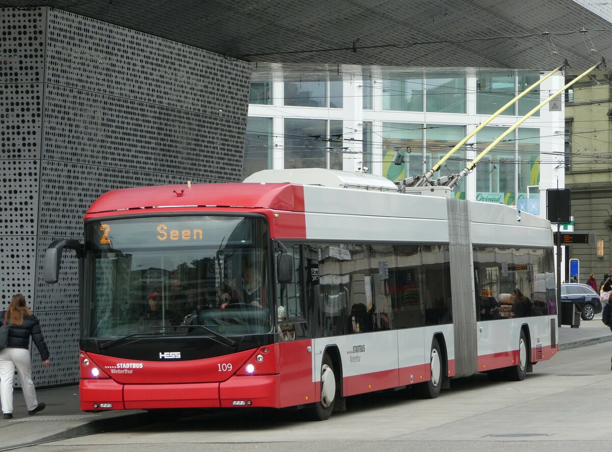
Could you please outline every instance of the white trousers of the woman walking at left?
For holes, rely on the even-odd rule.
[[[23,398],[26,399],[28,410],[38,406],[36,391],[32,381],[32,362],[28,349],[17,347],[6,347],[0,351],[0,402],[2,402],[2,413],[13,412],[13,378],[15,368],[19,372]]]

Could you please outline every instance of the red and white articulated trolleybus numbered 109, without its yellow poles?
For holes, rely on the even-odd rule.
[[[293,407],[488,372],[558,350],[548,221],[364,173],[115,190],[58,240],[81,273],[81,409]]]

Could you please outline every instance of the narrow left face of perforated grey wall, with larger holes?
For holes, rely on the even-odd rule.
[[[34,295],[46,14],[0,9],[0,310]]]

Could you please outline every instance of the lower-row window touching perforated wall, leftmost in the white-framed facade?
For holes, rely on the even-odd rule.
[[[272,168],[272,118],[247,118],[242,178],[262,169]]]

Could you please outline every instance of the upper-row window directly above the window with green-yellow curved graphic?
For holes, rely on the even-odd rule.
[[[383,76],[383,110],[423,111],[422,78],[388,73]]]

